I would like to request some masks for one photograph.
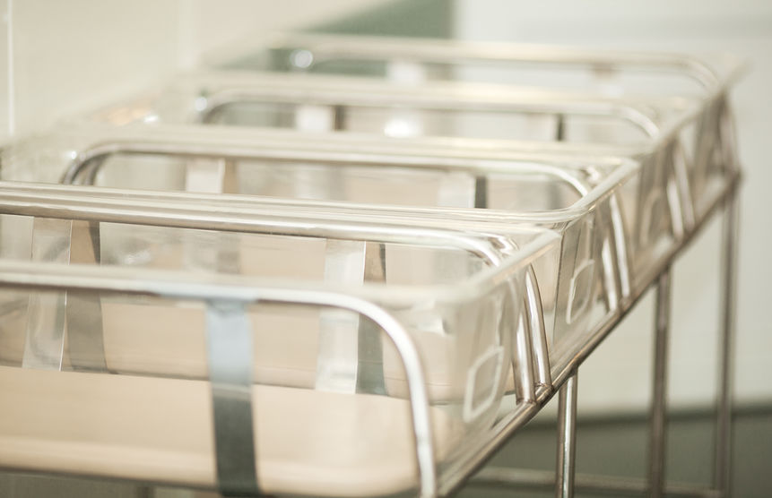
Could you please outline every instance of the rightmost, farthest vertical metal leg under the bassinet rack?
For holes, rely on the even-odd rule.
[[[732,374],[734,313],[737,269],[738,198],[731,194],[724,207],[722,240],[722,306],[719,371],[721,374],[716,407],[716,468],[713,484],[722,496],[729,496],[732,474]]]

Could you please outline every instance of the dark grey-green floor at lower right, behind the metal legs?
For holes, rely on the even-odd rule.
[[[646,417],[579,420],[577,472],[619,477],[645,477]],[[772,407],[741,408],[733,425],[733,493],[737,497],[772,496]],[[557,439],[551,420],[534,419],[516,434],[491,465],[543,470],[555,468]],[[669,418],[666,476],[668,480],[710,484],[713,426],[705,412],[672,414]],[[523,490],[524,497],[552,496]],[[469,485],[464,498],[513,496],[481,485]],[[578,494],[583,498],[594,494]]]

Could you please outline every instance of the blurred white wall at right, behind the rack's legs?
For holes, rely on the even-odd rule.
[[[745,167],[735,388],[741,402],[769,401],[772,382],[772,2],[650,0],[585,2],[458,0],[456,32],[465,39],[517,40],[592,47],[637,47],[748,57],[752,72],[733,92]],[[670,384],[673,405],[709,402],[716,379],[720,222],[677,262],[674,274]],[[650,389],[652,296],[579,371],[585,411],[642,408]]]

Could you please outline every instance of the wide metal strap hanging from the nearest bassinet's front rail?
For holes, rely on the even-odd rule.
[[[257,496],[252,420],[252,330],[241,303],[206,308],[217,485],[224,496]]]

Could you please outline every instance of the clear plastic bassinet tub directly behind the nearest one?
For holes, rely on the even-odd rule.
[[[678,211],[650,201],[668,201],[667,172],[634,161],[331,138],[222,127],[89,127],[14,142],[3,151],[3,177],[203,191],[213,193],[212,202],[221,193],[248,194],[240,202],[266,209],[299,199],[372,217],[417,217],[417,226],[434,219],[550,228],[561,236],[559,261],[533,265],[533,287],[548,289],[539,298],[542,312],[533,313],[545,315],[550,364],[539,369],[537,383],[546,386],[677,243]]]

